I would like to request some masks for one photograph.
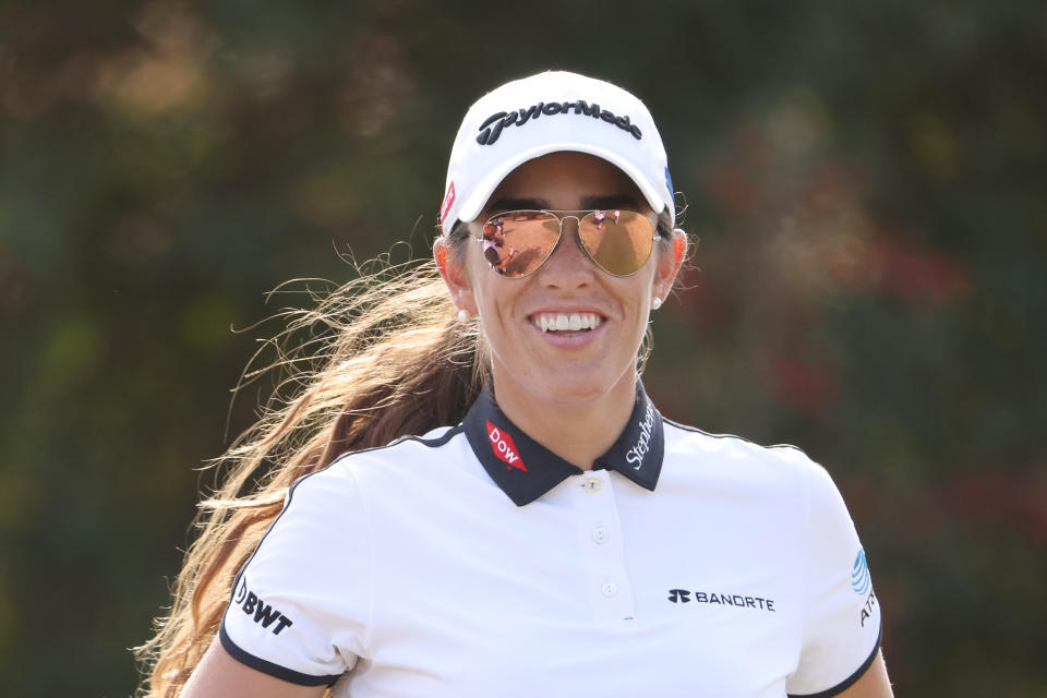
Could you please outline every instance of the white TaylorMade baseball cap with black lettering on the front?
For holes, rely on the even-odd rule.
[[[655,213],[669,208],[675,225],[665,147],[643,103],[611,83],[550,71],[506,83],[469,108],[447,166],[440,207],[444,234],[479,216],[509,172],[561,151],[615,165]]]

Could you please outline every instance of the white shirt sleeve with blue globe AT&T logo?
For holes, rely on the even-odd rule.
[[[862,677],[880,645],[880,606],[865,551],[825,468],[807,462],[807,557],[799,663],[790,696],[834,696]]]

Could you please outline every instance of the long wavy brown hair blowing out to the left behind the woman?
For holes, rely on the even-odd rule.
[[[660,218],[662,232],[667,221]],[[469,239],[467,226],[456,226],[448,253],[464,260]],[[317,299],[315,309],[288,311],[287,329],[268,342],[280,349],[278,359],[245,372],[286,375],[261,419],[213,464],[219,484],[198,505],[200,532],[176,580],[170,614],[135,648],[144,663],[141,695],[179,695],[218,631],[233,577],[297,479],[341,454],[456,424],[482,388],[490,366],[483,334],[478,322],[457,320],[432,260],[375,261],[360,272]],[[297,346],[284,346],[296,337]],[[648,332],[640,366],[650,345]]]

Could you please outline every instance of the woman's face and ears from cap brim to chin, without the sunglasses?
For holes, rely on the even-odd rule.
[[[470,224],[481,237],[491,216],[514,209],[588,210],[628,208],[655,222],[655,215],[633,181],[600,158],[553,153],[513,171]],[[558,245],[542,266],[524,278],[506,278],[491,268],[483,245],[470,242],[456,304],[480,316],[492,352],[500,401],[581,404],[611,393],[631,396],[636,353],[647,329],[652,296],[664,298],[679,266],[679,244],[655,243],[647,263],[631,276],[615,277],[598,267],[578,244],[578,224],[567,218]],[[674,250],[676,254],[674,254]],[[594,328],[546,332],[557,318]],[[577,316],[577,317],[575,317]],[[563,321],[561,321],[563,322]],[[617,388],[617,390],[615,390]]]

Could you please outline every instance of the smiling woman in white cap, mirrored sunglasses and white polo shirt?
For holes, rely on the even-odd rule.
[[[322,309],[354,320],[205,503],[154,694],[890,696],[825,470],[643,392],[674,222],[636,97],[551,72],[473,105],[442,280]]]

